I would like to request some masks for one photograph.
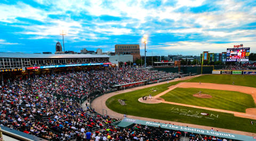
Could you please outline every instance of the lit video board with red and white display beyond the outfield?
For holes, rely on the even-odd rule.
[[[227,61],[249,61],[250,48],[227,48]]]

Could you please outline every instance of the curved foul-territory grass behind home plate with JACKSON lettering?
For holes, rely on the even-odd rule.
[[[148,95],[150,93],[154,96],[167,90],[167,87],[169,87],[170,85],[175,85],[177,83],[179,82],[172,82],[169,84],[163,84],[133,92],[118,94],[109,98],[106,102],[106,105],[109,109],[113,111],[122,114],[126,113],[132,116],[177,121],[188,124],[204,125],[210,127],[219,127],[256,133],[256,126],[251,125],[251,121],[256,120],[235,117],[233,114],[229,113],[189,108],[166,103],[147,104],[138,101],[138,99],[141,98],[143,95]],[[157,91],[154,92],[154,90]],[[118,102],[118,99],[125,100],[126,105],[122,106]],[[205,118],[200,114],[201,112],[209,113],[208,117],[213,119]]]

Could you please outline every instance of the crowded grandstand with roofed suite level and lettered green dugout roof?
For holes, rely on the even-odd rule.
[[[3,53],[1,57],[0,125],[5,136],[28,140],[81,140],[86,133],[91,133],[92,138],[108,140],[253,140],[251,136],[208,133],[207,130],[200,133],[198,130],[203,129],[192,130],[173,124],[122,120],[108,115],[107,111],[97,113],[90,107],[95,98],[108,93],[168,83],[176,78],[183,80],[196,73],[114,67],[106,56]],[[154,89],[155,93],[157,91]],[[127,103],[122,101],[126,107]],[[14,133],[10,134],[12,131]]]

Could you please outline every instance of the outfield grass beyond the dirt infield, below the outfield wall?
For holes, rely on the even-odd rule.
[[[233,84],[241,86],[256,87],[256,75],[230,75],[230,74],[212,74],[202,75],[191,78],[188,82]]]

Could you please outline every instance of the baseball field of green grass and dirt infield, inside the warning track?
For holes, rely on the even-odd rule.
[[[256,76],[203,75],[117,94],[106,105],[131,116],[256,133],[255,101]]]

